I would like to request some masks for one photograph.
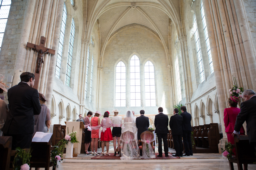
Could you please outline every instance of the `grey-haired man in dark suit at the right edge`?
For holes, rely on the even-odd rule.
[[[240,134],[239,131],[244,121],[246,121],[246,130],[249,137],[249,142],[254,147],[256,152],[256,94],[253,90],[244,90],[243,99],[245,101],[241,103],[241,110],[237,115],[232,136]]]

